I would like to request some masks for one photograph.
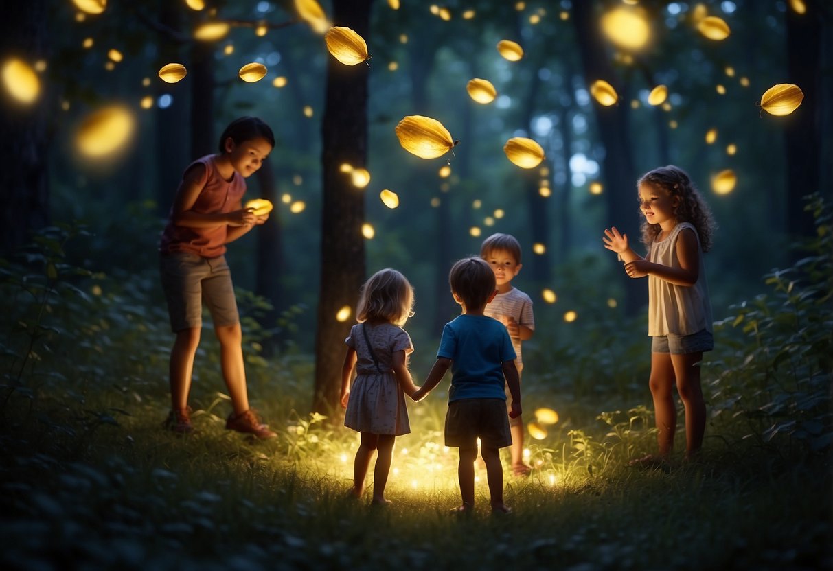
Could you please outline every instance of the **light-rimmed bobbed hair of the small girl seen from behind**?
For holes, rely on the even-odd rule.
[[[413,314],[414,290],[402,273],[385,268],[370,276],[362,285],[356,318],[362,323],[381,320],[405,325]]]

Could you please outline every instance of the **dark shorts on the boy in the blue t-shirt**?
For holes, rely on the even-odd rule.
[[[503,399],[462,399],[448,403],[446,446],[461,449],[505,448],[512,444]]]

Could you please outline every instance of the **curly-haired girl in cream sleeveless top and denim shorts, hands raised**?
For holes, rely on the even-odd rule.
[[[642,216],[642,258],[616,227],[605,230],[608,250],[625,262],[632,278],[648,276],[648,335],[651,335],[651,396],[659,455],[631,464],[664,463],[674,444],[674,387],[686,410],[686,457],[701,449],[706,402],[700,383],[703,352],[714,348],[711,302],[703,252],[715,228],[709,207],[686,171],[673,165],[646,172],[638,181]]]

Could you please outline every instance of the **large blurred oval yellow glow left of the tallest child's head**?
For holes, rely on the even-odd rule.
[[[133,115],[124,107],[103,107],[84,117],[75,141],[82,156],[104,159],[127,146],[136,127]]]

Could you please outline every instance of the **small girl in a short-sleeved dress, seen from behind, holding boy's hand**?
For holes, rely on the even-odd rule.
[[[416,386],[408,371],[411,337],[402,329],[413,315],[411,284],[396,270],[377,271],[362,286],[356,311],[357,325],[347,337],[347,355],[342,366],[342,406],[347,408],[344,425],[362,434],[362,444],[353,462],[350,493],[362,496],[367,469],[378,450],[373,470],[373,504],[385,499],[387,474],[391,469],[397,436],[411,432],[405,395]],[[350,380],[356,371],[352,386]]]

